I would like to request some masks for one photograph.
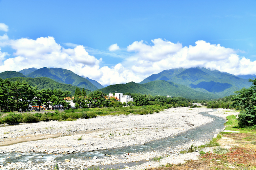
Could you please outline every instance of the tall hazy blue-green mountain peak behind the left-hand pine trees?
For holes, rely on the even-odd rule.
[[[86,78],[78,76],[72,71],[62,68],[43,67],[28,74],[27,77],[48,77],[59,83],[72,84],[73,86],[89,89],[91,91],[98,89]]]

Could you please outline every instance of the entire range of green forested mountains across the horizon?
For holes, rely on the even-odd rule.
[[[31,78],[26,78],[22,73]],[[17,77],[10,78],[10,80],[15,81],[19,79],[20,81],[28,81],[32,86],[37,86],[38,89],[61,88],[64,91],[69,90],[73,93],[75,92],[75,86],[78,86],[89,89],[89,91],[100,89],[100,91],[106,94],[129,92],[181,96],[190,99],[216,99],[234,94],[236,90],[249,87],[251,82],[248,82],[247,78],[252,78],[253,76],[255,75],[242,76],[246,78],[244,79],[206,68],[176,68],[164,70],[159,74],[153,74],[139,84],[130,82],[110,85],[104,88],[95,80],[78,76],[70,70],[61,68],[30,68],[21,70],[20,72],[7,71],[0,73],[0,78]],[[90,93],[89,91],[88,93]]]

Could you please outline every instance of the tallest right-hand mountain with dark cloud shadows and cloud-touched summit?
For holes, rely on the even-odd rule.
[[[234,91],[251,85],[251,82],[248,82],[247,79],[204,67],[164,70],[159,74],[149,76],[141,81],[140,84],[161,79],[185,85],[199,92],[212,93],[221,97],[232,95]]]

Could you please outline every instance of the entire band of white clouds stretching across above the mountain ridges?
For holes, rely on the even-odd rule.
[[[8,31],[6,26],[0,25],[0,29]],[[151,40],[151,43],[135,41],[127,46],[126,51],[121,48],[124,55],[113,66],[109,66],[111,63],[104,60],[104,55],[108,55],[105,51],[96,50],[97,55],[103,56],[96,58],[92,55],[93,49],[88,50],[89,47],[73,43],[62,44],[72,45],[64,48],[50,36],[36,40],[10,39],[5,33],[0,36],[0,72],[31,67],[59,67],[95,79],[101,84],[140,82],[152,74],[179,67],[199,66],[235,75],[256,74],[256,61],[240,57],[238,50],[203,40],[195,42],[194,46],[182,46],[180,42],[173,43],[160,38]],[[9,54],[1,49],[6,46],[15,52]],[[117,51],[120,52],[118,49],[117,44],[109,46],[113,56]]]

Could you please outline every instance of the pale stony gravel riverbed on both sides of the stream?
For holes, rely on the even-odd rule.
[[[32,124],[0,127],[0,154],[10,152],[39,152],[47,154],[79,153],[113,149],[135,144],[146,144],[149,141],[175,136],[213,121],[199,112],[212,111],[205,108],[172,108],[148,115],[97,116],[92,119],[77,121],[49,121]],[[227,109],[217,109],[210,112],[216,116],[226,117],[239,112]],[[216,134],[218,132],[216,131]],[[81,140],[78,138],[81,137]],[[126,169],[146,169],[158,167],[167,163],[177,164],[185,160],[197,159],[198,152],[179,154],[180,150],[201,145],[207,141],[191,141],[173,149],[166,146],[163,151],[143,153],[124,153],[123,155],[108,155],[103,159],[90,160],[67,159],[66,161],[35,161],[0,162],[0,169],[54,169],[56,164],[60,169],[87,169],[91,166],[128,163],[144,160],[141,165],[126,167]],[[159,162],[152,158],[164,157]]]

